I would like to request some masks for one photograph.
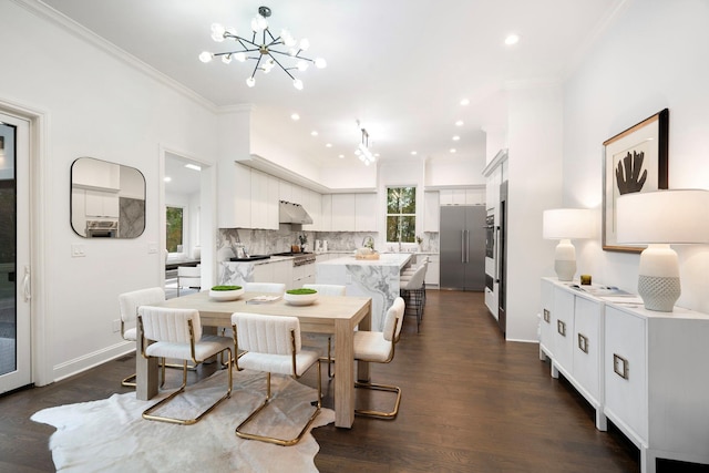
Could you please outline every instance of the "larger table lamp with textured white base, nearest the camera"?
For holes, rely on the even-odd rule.
[[[640,254],[638,294],[645,308],[671,312],[681,294],[671,245],[709,243],[709,191],[624,194],[616,203],[617,240],[648,245]]]

